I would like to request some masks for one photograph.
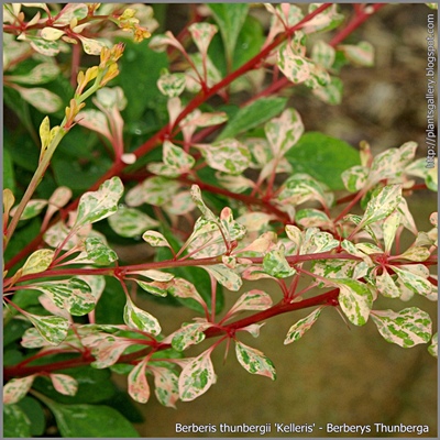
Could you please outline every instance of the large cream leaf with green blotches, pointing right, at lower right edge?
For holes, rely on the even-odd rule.
[[[371,317],[385,341],[404,349],[428,343],[432,334],[429,315],[418,307],[395,312],[393,310],[372,310]]]

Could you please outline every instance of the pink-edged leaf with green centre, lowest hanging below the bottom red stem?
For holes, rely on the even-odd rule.
[[[180,373],[178,387],[183,402],[190,402],[205,394],[216,383],[211,349],[194,358]]]

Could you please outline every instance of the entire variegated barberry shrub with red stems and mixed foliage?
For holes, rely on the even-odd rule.
[[[341,28],[337,4],[265,4],[265,33],[249,4],[200,6],[180,35],[142,42],[157,25],[144,6],[4,6],[6,98],[28,130],[6,132],[8,435],[42,435],[41,402],[64,437],[135,437],[111,408],[122,397],[102,386],[107,373],[127,375],[140,403],[150,399],[151,377],[158,402],[175,407],[215,384],[211,353],[222,342],[234,344],[248,372],[274,380],[272,361],[240,332],[257,338],[263,321],[302,308],[314,310],[292,326],[285,344],[324,309],[337,309],[354,326],[371,319],[400,346],[431,342],[437,355],[427,312],[380,305],[382,297],[437,299],[437,213],[433,228],[420,232],[405,198],[420,186],[437,190],[435,168],[416,160],[414,142],[373,155],[366,143],[358,153],[305,133],[299,113],[275,96],[301,85],[311,99],[339,103],[341,68],[374,58],[367,42],[339,43],[380,7],[356,6]],[[43,12],[28,20],[22,8]],[[339,29],[330,43],[317,38]],[[127,31],[138,44],[121,37]],[[79,68],[79,44],[100,56],[99,65]],[[73,85],[59,76],[70,47]],[[64,113],[50,85],[70,94]],[[241,102],[243,94],[252,98]],[[84,109],[92,95],[96,108]],[[213,108],[215,96],[224,103]],[[51,129],[38,111],[62,122]],[[25,157],[32,138],[40,157]],[[20,140],[22,151],[12,148]],[[349,195],[337,199],[338,190]],[[363,215],[350,213],[358,202]],[[414,235],[406,250],[404,230]],[[154,261],[120,263],[112,245],[141,239]],[[278,302],[273,293],[250,289],[222,310],[223,288],[238,292],[243,280],[261,278],[277,286]],[[182,323],[175,309],[176,329],[164,334],[141,307],[144,297],[197,317]],[[215,342],[188,356],[208,340]]]

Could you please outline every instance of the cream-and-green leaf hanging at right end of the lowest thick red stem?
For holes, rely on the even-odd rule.
[[[342,311],[354,326],[364,326],[373,306],[370,289],[355,279],[332,279],[339,289],[338,301]]]

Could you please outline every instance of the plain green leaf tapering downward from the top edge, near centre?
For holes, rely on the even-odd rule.
[[[248,15],[246,3],[209,3],[209,9],[220,28],[228,64],[232,65],[237,38]]]

